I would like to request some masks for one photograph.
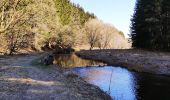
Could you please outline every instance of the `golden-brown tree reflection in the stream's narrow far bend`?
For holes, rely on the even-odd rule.
[[[96,61],[80,59],[75,54],[57,55],[55,56],[54,64],[60,65],[64,68],[103,65],[103,63]]]

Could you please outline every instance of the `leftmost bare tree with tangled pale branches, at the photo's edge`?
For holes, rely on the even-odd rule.
[[[0,34],[7,41],[9,54],[15,52],[24,41],[24,30],[30,17],[27,15],[27,0],[2,0],[0,4]],[[22,33],[22,34],[21,34]]]

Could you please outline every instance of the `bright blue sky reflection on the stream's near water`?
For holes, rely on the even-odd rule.
[[[126,69],[107,66],[102,68],[75,68],[74,71],[87,82],[110,93],[115,100],[136,100],[137,84],[135,77]]]

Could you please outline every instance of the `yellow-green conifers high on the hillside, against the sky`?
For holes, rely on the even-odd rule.
[[[89,18],[95,18],[94,14],[86,13],[82,7],[71,3],[69,0],[54,1],[62,25],[72,24],[75,19],[79,21],[81,25],[84,25]]]

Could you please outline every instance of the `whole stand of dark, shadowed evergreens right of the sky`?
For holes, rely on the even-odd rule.
[[[133,47],[170,51],[170,1],[137,0],[131,30]]]

